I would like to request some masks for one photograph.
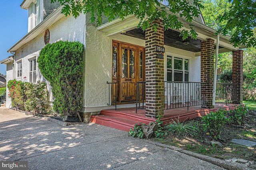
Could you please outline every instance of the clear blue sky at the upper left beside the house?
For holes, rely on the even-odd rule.
[[[0,61],[11,54],[6,51],[28,33],[28,10],[20,8],[23,0],[0,0]],[[6,64],[0,64],[0,73],[6,75]]]

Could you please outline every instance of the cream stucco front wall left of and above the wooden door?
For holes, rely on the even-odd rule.
[[[108,108],[108,82],[112,81],[112,40],[145,46],[145,41],[127,35],[107,37],[95,25],[86,25],[84,111]]]

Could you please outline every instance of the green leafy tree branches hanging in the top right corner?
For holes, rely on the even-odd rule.
[[[228,0],[232,6],[218,19],[226,22],[218,30],[224,35],[231,34],[230,42],[256,47],[256,0]]]

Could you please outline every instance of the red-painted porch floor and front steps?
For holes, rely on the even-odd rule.
[[[201,108],[201,106],[181,107],[176,109],[164,110],[164,117],[161,118],[163,124],[166,124],[172,119],[178,119],[180,121],[193,119],[195,117],[204,116],[210,112],[218,111],[223,108],[225,110],[232,110],[236,104],[217,103],[212,109]],[[92,123],[113,127],[123,131],[129,131],[135,124],[146,123],[156,121],[156,119],[146,117],[145,109],[136,108],[123,108],[123,109],[107,109],[102,110],[100,115],[92,115],[90,118]]]

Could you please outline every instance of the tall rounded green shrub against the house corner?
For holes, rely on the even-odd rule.
[[[38,57],[38,67],[52,86],[54,110],[76,115],[82,108],[84,45],[58,41],[46,45]]]

